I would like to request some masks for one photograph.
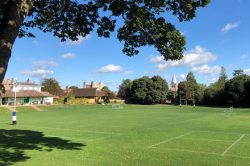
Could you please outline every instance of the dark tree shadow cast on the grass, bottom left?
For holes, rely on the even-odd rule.
[[[0,129],[0,166],[14,165],[30,159],[25,150],[81,150],[84,146],[86,145],[58,137],[45,137],[38,131]]]

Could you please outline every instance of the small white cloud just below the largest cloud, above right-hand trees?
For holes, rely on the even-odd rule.
[[[216,75],[220,73],[221,71],[221,66],[208,66],[208,65],[203,65],[200,67],[193,67],[192,70],[194,72],[197,72],[202,75]]]

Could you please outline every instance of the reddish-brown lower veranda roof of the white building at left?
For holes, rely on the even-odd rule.
[[[38,92],[35,90],[21,90],[16,92],[16,97],[52,97],[49,92]],[[15,97],[15,92],[6,91],[1,93],[1,97]]]

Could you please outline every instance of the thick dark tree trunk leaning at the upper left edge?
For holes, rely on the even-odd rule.
[[[28,16],[33,0],[8,0],[0,27],[0,83],[6,74],[11,50],[20,26]]]

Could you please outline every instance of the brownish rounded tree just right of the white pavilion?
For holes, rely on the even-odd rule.
[[[59,82],[54,78],[46,78],[42,80],[42,91],[47,91],[55,96],[63,95],[63,90],[61,89]]]

